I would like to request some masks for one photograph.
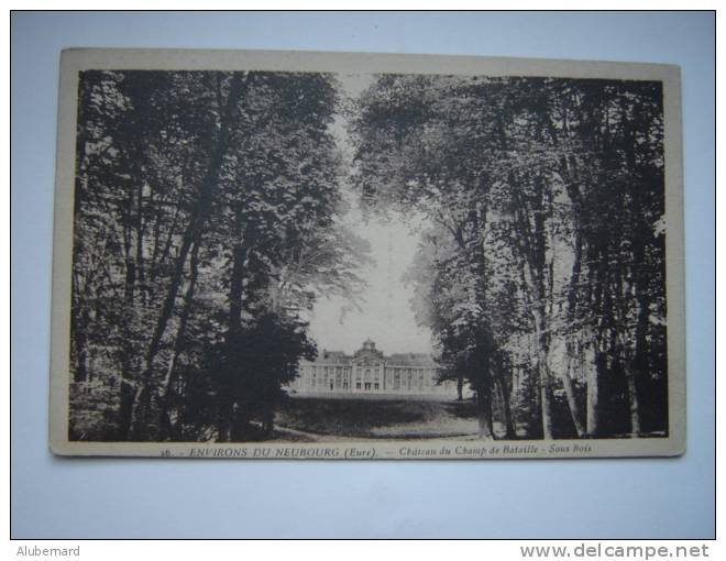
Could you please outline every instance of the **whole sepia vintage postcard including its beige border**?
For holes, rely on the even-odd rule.
[[[685,450],[680,70],[69,50],[51,449]]]

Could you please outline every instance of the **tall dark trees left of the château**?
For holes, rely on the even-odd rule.
[[[326,74],[80,73],[72,440],[271,435],[304,312],[362,286],[339,102]]]

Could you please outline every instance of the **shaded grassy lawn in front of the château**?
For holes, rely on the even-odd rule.
[[[471,402],[293,397],[275,417],[280,428],[320,436],[435,438],[476,432]]]

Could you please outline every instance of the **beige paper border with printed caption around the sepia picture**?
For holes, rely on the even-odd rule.
[[[319,443],[68,441],[73,185],[78,73],[85,69],[297,70],[612,78],[663,82],[669,436],[477,441],[350,439]],[[59,455],[267,459],[513,459],[685,453],[685,262],[680,67],[645,63],[285,51],[72,48],[61,57],[53,230],[50,448]]]

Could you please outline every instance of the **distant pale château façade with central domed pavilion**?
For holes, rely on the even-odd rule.
[[[299,376],[288,386],[290,394],[382,394],[455,398],[457,384],[439,382],[439,369],[429,354],[399,353],[385,356],[370,339],[352,356],[323,351],[302,361]]]

